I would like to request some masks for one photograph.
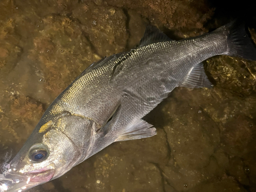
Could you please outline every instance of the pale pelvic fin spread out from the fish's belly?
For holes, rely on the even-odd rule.
[[[140,119],[136,123],[127,127],[125,131],[115,141],[127,141],[152,137],[157,134],[156,128],[152,124]]]

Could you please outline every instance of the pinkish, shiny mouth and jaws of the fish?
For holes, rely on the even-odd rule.
[[[17,191],[21,192],[30,189],[36,185],[50,181],[54,176],[55,170],[53,168],[44,167],[31,172],[23,174],[16,174],[5,172],[0,179],[0,192],[1,186],[5,187],[3,191]]]

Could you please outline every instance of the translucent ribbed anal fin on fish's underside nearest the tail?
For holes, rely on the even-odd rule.
[[[209,81],[204,72],[204,66],[202,62],[198,63],[194,68],[191,69],[185,81],[179,87],[186,87],[191,89],[212,87],[212,83]]]

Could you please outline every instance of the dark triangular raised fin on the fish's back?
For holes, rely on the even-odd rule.
[[[146,45],[155,44],[156,42],[173,40],[155,26],[147,26],[144,32],[144,36],[140,40],[138,47],[144,47]]]

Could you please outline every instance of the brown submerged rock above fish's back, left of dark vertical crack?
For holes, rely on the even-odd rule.
[[[83,30],[90,39],[94,51],[101,56],[123,52],[128,34],[126,16],[122,9],[88,4],[90,9],[84,12],[78,7],[73,16],[84,26]]]

